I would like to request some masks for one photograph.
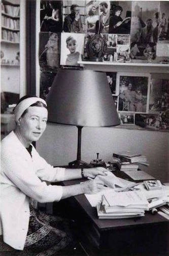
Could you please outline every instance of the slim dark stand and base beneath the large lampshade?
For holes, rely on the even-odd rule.
[[[69,167],[71,168],[90,168],[92,165],[81,161],[81,134],[83,126],[78,127],[78,151],[77,151],[77,159],[73,162],[69,163]]]

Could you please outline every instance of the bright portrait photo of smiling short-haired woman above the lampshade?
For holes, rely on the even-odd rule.
[[[79,66],[82,60],[85,34],[61,33],[60,65]]]

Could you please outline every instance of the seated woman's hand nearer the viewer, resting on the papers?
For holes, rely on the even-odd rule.
[[[81,185],[83,185],[84,194],[95,194],[104,188],[104,181],[96,177],[93,180],[83,182]]]

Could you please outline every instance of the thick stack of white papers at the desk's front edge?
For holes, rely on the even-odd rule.
[[[148,210],[148,201],[142,191],[115,192],[103,195],[97,204],[98,218],[115,219],[142,217]]]

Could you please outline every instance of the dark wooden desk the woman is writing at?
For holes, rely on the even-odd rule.
[[[73,185],[80,181],[64,181],[62,184]],[[78,222],[80,239],[88,255],[168,255],[169,226],[159,214],[147,212],[145,217],[98,219],[96,209],[84,195],[65,202],[64,211],[72,213]]]

